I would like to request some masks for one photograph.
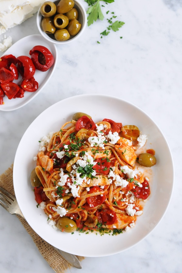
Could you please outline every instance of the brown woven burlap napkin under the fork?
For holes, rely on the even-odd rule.
[[[8,170],[4,172],[4,174],[0,176],[0,187],[4,188],[9,193],[15,196],[13,188],[13,164],[11,165],[11,167],[8,168]],[[33,229],[22,217],[18,215],[16,216],[19,218],[26,231],[32,237],[34,243],[36,244],[44,259],[49,263],[49,265],[56,273],[64,273],[67,268],[71,268],[71,265],[67,261],[65,261],[50,244],[48,244],[41,237],[39,237],[39,235],[36,234],[35,231],[33,231]],[[80,261],[84,259],[84,257],[81,256],[77,257]]]

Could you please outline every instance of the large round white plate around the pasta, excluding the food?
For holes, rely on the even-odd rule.
[[[53,229],[47,223],[47,215],[36,207],[30,174],[35,168],[33,160],[39,150],[39,140],[49,132],[56,132],[66,121],[72,120],[76,112],[87,113],[94,122],[104,118],[136,125],[148,137],[146,149],[156,152],[157,164],[149,168],[151,194],[147,199],[143,214],[136,220],[134,228],[122,234],[96,235],[95,233],[74,234]],[[122,99],[105,95],[80,95],[59,101],[42,112],[25,131],[16,151],[13,182],[15,195],[25,219],[33,230],[45,241],[63,251],[87,257],[116,254],[131,248],[145,238],[160,222],[170,203],[174,184],[174,166],[163,133],[151,118],[133,104]]]

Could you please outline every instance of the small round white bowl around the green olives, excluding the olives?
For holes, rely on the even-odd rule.
[[[56,5],[59,3],[60,0],[58,1],[52,1],[53,3],[55,3]],[[77,0],[74,0],[75,2],[75,5],[74,7],[78,9],[79,11],[79,19],[78,21],[82,24],[82,27],[79,31],[79,33],[75,36],[70,36],[69,40],[67,41],[57,41],[55,38],[54,38],[54,34],[47,34],[45,33],[43,30],[42,30],[42,25],[41,25],[41,22],[42,22],[42,19],[43,19],[43,16],[42,14],[40,13],[40,8],[39,8],[39,11],[37,13],[37,27],[39,29],[39,32],[40,34],[46,39],[48,40],[49,42],[52,42],[52,43],[55,43],[55,44],[67,44],[67,43],[70,43],[70,42],[73,42],[75,41],[76,39],[78,39],[84,32],[85,30],[85,27],[86,27],[86,23],[87,23],[87,15],[86,15],[86,11],[85,11],[85,8],[83,7],[83,5],[77,1]]]

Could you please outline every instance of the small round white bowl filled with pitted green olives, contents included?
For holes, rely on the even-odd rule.
[[[82,35],[86,11],[77,0],[45,1],[37,13],[37,27],[49,42],[65,44]]]

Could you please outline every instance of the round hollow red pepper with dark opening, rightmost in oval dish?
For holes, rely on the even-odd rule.
[[[47,71],[54,63],[52,53],[45,46],[34,46],[29,54],[36,69],[40,71]]]

